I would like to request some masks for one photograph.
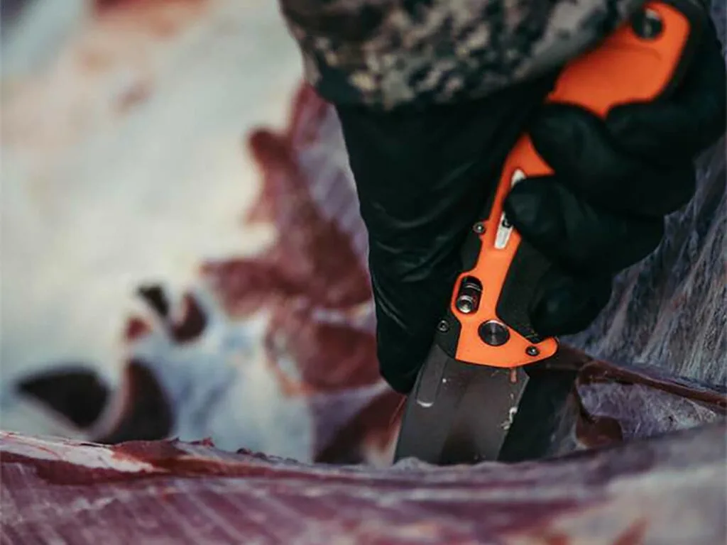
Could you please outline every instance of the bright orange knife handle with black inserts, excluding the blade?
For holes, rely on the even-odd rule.
[[[547,101],[578,105],[605,117],[614,105],[663,97],[682,75],[703,17],[704,8],[694,1],[648,2],[632,23],[566,65]],[[463,256],[469,262],[438,328],[437,342],[451,357],[515,368],[549,358],[558,349],[556,339],[537,335],[528,316],[534,289],[550,264],[521,241],[502,212],[515,182],[552,172],[527,135],[507,156],[483,213],[486,219],[475,223],[465,243]]]

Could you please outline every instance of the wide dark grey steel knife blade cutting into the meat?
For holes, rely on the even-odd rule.
[[[569,350],[509,369],[462,363],[434,346],[406,400],[394,460],[430,464],[547,456],[576,371]],[[566,361],[567,360],[567,361]]]

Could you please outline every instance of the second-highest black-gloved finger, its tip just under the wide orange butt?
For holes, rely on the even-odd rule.
[[[530,129],[531,139],[558,179],[599,208],[616,214],[662,217],[694,195],[690,159],[662,169],[619,149],[605,124],[569,105],[548,105]]]

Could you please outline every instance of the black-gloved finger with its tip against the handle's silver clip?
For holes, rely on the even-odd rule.
[[[663,219],[616,216],[577,198],[555,177],[525,179],[505,199],[522,237],[565,270],[607,275],[656,249]]]

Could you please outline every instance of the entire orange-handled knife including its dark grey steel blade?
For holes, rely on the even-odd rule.
[[[697,1],[647,2],[597,48],[566,65],[547,100],[605,117],[614,105],[666,96],[686,71],[706,23]],[[537,373],[566,352],[529,324],[528,304],[550,264],[521,240],[502,203],[521,179],[550,173],[523,134],[462,249],[462,273],[406,400],[395,461],[414,457],[444,465],[546,455],[574,373]]]

